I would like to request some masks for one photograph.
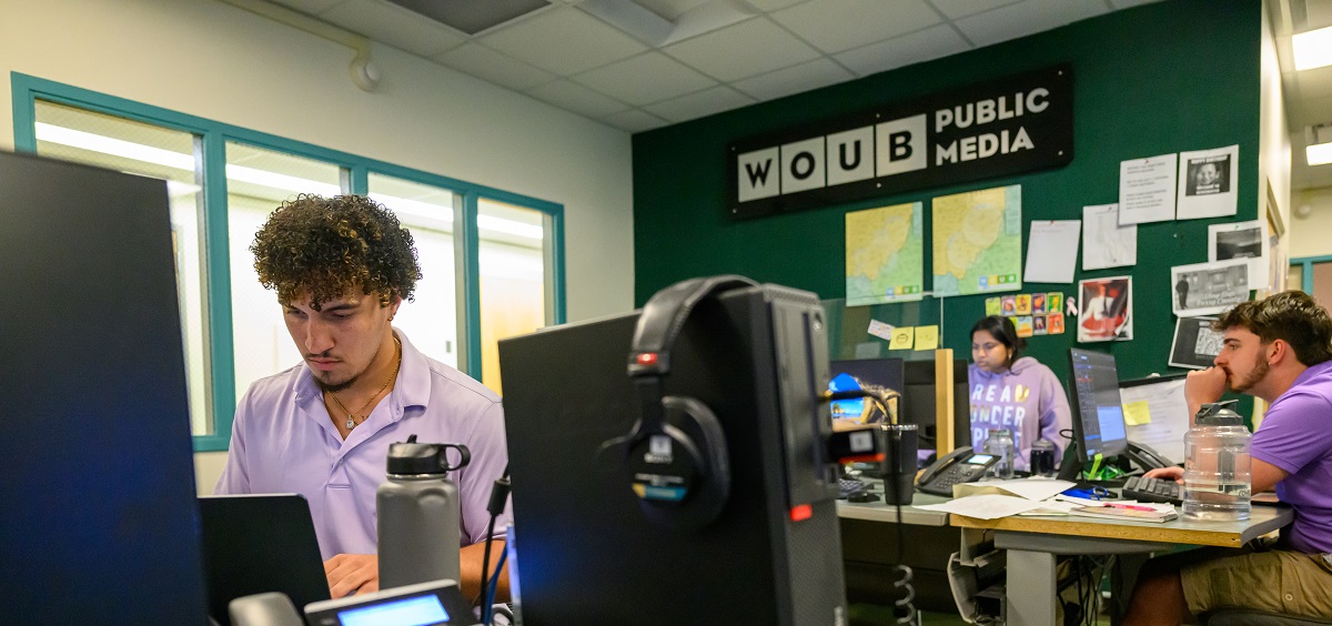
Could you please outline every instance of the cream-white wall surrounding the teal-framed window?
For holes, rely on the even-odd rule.
[[[214,0],[5,1],[3,15],[0,93],[20,72],[561,202],[567,318],[633,308],[623,131],[382,45],[384,83],[365,93],[350,49]],[[12,116],[0,105],[4,149]],[[201,485],[221,458],[198,456]]]

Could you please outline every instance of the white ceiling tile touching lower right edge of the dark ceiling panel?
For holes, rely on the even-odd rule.
[[[571,7],[521,20],[481,36],[480,41],[559,76],[585,72],[647,49],[629,35]]]

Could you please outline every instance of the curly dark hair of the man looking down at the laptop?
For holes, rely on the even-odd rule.
[[[305,292],[310,306],[357,288],[388,306],[412,300],[421,280],[412,233],[397,216],[364,196],[300,194],[282,202],[250,245],[258,281],[281,302]]]

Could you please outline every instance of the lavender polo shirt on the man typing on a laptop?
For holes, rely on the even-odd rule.
[[[310,503],[324,559],[374,554],[374,491],[385,481],[389,444],[416,434],[472,450],[472,462],[449,478],[462,495],[462,545],[485,541],[490,487],[509,462],[500,397],[394,332],[402,341],[397,384],[346,441],[304,364],[250,385],[236,408],[216,493],[298,493]],[[509,521],[506,507],[497,535]]]

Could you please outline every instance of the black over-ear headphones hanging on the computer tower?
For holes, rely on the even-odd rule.
[[[625,448],[625,473],[649,521],[695,530],[722,513],[731,490],[726,433],[703,402],[662,396],[670,350],[699,302],[758,284],[743,276],[714,276],[677,282],[657,292],[638,317],[629,353],[629,377],[638,390],[639,417],[626,437],[606,442]]]

